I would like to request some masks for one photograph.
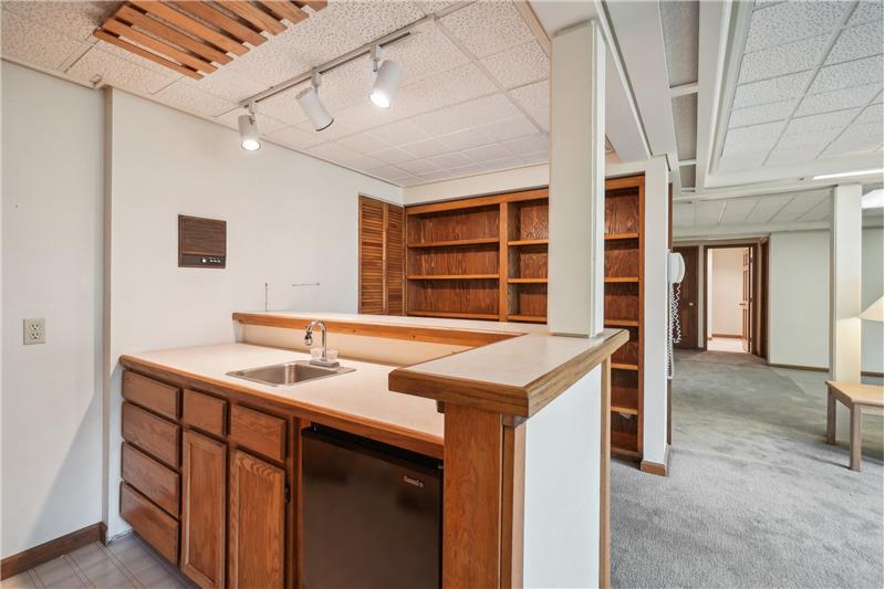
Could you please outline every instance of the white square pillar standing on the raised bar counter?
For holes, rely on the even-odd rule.
[[[603,327],[605,42],[596,23],[558,33],[550,67],[551,332]]]

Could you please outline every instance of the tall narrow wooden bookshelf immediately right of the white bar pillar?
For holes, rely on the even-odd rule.
[[[605,182],[605,325],[629,333],[612,356],[612,453],[642,460],[645,178]]]

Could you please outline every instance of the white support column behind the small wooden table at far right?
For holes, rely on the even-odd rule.
[[[830,246],[830,369],[861,381],[861,185],[836,187]]]

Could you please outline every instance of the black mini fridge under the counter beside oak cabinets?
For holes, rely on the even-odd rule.
[[[304,587],[440,587],[441,462],[319,425],[301,441]]]

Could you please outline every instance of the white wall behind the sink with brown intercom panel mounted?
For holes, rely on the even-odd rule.
[[[230,314],[356,312],[357,194],[400,189],[114,91],[110,256],[108,513],[117,514],[122,354],[233,340]],[[227,269],[179,269],[177,215],[225,219]],[[320,282],[319,287],[292,287]]]

